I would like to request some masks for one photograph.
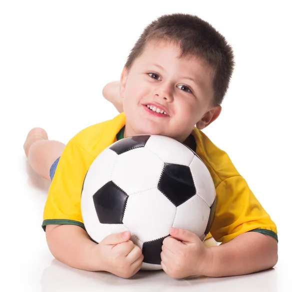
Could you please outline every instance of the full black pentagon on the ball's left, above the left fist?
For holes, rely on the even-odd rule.
[[[99,222],[102,224],[122,224],[128,195],[108,182],[92,196]]]

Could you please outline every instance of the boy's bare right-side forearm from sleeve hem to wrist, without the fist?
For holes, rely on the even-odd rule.
[[[277,263],[277,242],[270,236],[247,232],[228,243],[209,248],[209,277],[225,277],[255,273]]]

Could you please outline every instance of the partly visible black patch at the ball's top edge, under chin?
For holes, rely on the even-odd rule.
[[[150,135],[136,135],[123,138],[109,147],[116,154],[120,155],[132,149],[144,147]]]

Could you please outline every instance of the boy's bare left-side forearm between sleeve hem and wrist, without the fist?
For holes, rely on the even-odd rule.
[[[92,250],[96,244],[81,227],[48,225],[46,240],[51,254],[60,262],[80,270],[97,270],[92,257]]]

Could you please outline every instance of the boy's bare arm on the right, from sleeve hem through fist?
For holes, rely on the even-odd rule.
[[[247,232],[208,248],[190,231],[171,228],[169,233],[160,256],[162,269],[172,278],[244,275],[277,263],[277,241],[268,235]]]

